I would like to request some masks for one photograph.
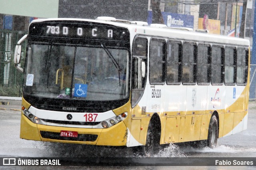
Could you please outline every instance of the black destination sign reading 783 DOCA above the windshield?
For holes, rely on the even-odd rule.
[[[92,22],[32,23],[29,29],[29,36],[129,41],[128,29]]]

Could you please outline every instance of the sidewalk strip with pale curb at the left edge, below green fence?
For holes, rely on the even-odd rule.
[[[0,96],[0,110],[21,111],[21,99],[18,97]]]

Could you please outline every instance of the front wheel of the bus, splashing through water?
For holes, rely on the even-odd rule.
[[[151,122],[148,125],[148,131],[147,131],[147,137],[146,137],[146,145],[144,146],[138,146],[133,147],[133,153],[135,156],[146,156],[150,157],[152,154],[154,154],[154,151],[156,150],[157,144],[156,143],[156,135],[153,131],[153,127]]]

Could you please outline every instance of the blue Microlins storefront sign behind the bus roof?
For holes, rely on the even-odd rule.
[[[194,16],[162,12],[164,24],[167,27],[186,27],[194,28]],[[148,24],[152,23],[152,11],[148,11]]]

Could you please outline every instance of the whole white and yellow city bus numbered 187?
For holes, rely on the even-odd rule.
[[[152,156],[170,143],[213,148],[246,130],[250,42],[185,30],[108,17],[33,20],[14,53],[24,72],[20,138]]]

